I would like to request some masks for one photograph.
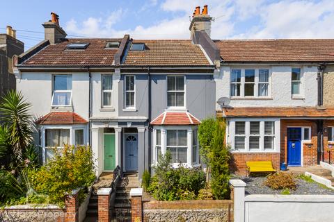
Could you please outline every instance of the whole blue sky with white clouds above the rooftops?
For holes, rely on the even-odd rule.
[[[17,37],[26,49],[44,38],[41,24],[50,19],[51,11],[60,16],[68,35],[122,37],[129,33],[137,39],[187,39],[189,15],[205,4],[215,18],[212,37],[216,39],[334,36],[333,0],[16,0],[7,4],[0,8],[0,33],[6,25],[22,30]]]

